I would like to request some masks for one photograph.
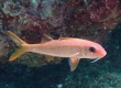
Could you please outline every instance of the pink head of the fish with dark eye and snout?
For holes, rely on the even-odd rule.
[[[85,58],[102,58],[107,55],[106,50],[98,43],[95,42],[87,42],[85,43],[85,51],[84,55]]]

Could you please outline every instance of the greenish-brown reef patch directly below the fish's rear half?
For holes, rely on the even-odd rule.
[[[48,64],[58,64],[61,61],[62,61],[61,58],[55,57]],[[41,54],[35,54],[35,53],[26,53],[21,57],[19,57],[18,59],[15,59],[13,63],[28,65],[29,67],[40,67],[47,65],[47,61],[45,59],[45,57]]]

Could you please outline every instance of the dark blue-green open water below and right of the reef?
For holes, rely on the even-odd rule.
[[[67,59],[43,67],[0,65],[0,88],[121,88],[121,24],[103,42],[108,55],[96,63],[80,59],[73,73]]]

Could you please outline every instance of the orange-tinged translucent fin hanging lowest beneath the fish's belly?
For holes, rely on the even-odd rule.
[[[69,66],[70,66],[70,72],[73,72],[73,70],[76,69],[76,67],[79,63],[79,58],[72,57],[72,58],[69,58],[68,63],[69,63]]]

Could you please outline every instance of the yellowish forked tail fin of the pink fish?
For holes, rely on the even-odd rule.
[[[9,62],[12,62],[26,52],[25,45],[28,44],[24,41],[22,41],[20,37],[18,37],[14,33],[10,31],[8,31],[7,33],[12,38],[12,41],[20,47],[15,50],[15,52],[11,55]]]

